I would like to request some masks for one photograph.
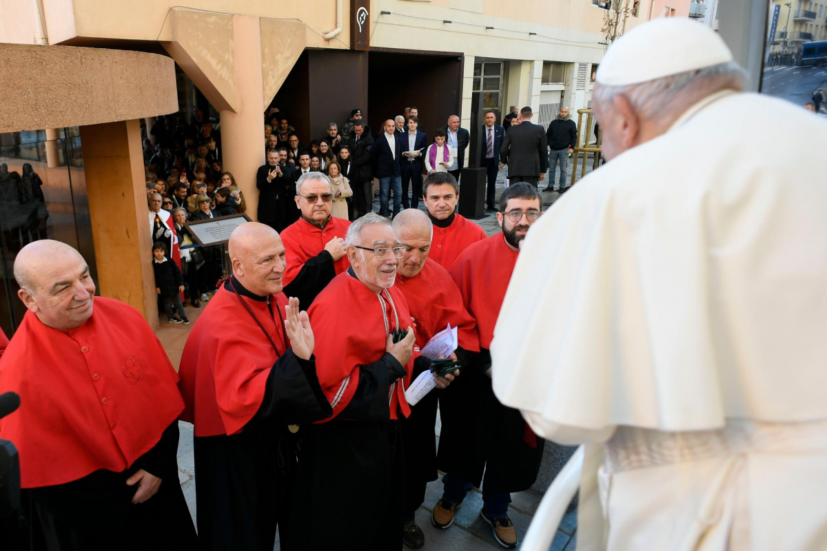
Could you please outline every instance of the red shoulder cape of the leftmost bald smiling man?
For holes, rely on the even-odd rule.
[[[184,407],[177,381],[131,306],[95,297],[92,317],[69,331],[26,312],[0,360],[0,392],[21,397],[0,420],[0,438],[19,450],[22,487],[128,468]]]

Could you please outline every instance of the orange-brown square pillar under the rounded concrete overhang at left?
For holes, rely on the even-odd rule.
[[[158,327],[139,121],[81,126],[99,291]]]

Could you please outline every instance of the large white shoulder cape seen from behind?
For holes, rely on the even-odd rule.
[[[825,144],[803,108],[730,94],[583,178],[523,243],[500,401],[541,433],[827,418]]]

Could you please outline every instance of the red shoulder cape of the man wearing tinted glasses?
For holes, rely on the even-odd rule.
[[[304,218],[299,218],[299,220],[284,228],[284,231],[281,232],[281,241],[287,251],[284,285],[288,285],[293,281],[299,275],[304,263],[321,253],[324,250],[324,245],[327,245],[330,240],[334,237],[344,239],[347,228],[350,226],[350,221],[331,216],[327,226],[324,226],[324,230],[309,224]],[[347,261],[347,256],[343,256],[333,266],[338,275],[350,268],[350,263]]]

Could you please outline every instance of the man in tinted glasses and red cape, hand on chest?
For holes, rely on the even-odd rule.
[[[347,270],[344,235],[351,222],[331,216],[332,185],[323,173],[303,174],[294,198],[302,216],[281,232],[287,249],[284,285],[292,283],[309,306],[332,278]]]

